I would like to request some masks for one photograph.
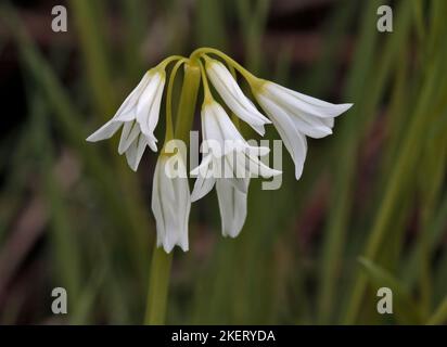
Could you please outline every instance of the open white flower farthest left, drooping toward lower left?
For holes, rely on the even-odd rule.
[[[118,153],[126,153],[130,168],[137,170],[146,145],[154,152],[157,150],[154,129],[158,123],[165,75],[159,68],[145,73],[115,116],[89,136],[87,141],[108,139],[123,126]]]

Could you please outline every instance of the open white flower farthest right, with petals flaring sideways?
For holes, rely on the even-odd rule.
[[[296,179],[302,176],[306,159],[305,136],[320,139],[331,134],[334,117],[353,105],[331,104],[271,81],[263,81],[253,91],[295,163]]]

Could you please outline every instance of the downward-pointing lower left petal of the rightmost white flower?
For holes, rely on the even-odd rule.
[[[290,116],[274,102],[263,94],[257,94],[257,99],[273,121],[282,141],[284,141],[284,145],[295,163],[295,177],[296,179],[299,179],[303,174],[303,166],[307,152],[305,136],[296,129]]]

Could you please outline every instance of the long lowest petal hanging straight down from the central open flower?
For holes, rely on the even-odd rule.
[[[248,184],[248,183],[246,183]],[[216,182],[224,236],[235,237],[246,218],[247,194],[242,193],[225,179]]]

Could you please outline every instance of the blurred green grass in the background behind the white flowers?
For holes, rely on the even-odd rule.
[[[118,1],[118,43],[107,35],[107,2],[73,0],[71,30],[76,30],[81,69],[68,86],[61,78],[63,54],[42,54],[17,11],[2,4],[21,56],[29,115],[11,134],[12,160],[0,164],[7,177],[0,191],[0,249],[13,236],[10,226],[33,176],[49,217],[41,255],[51,265],[47,285],[64,286],[73,298],[66,322],[141,323],[155,236],[148,187],[156,156],[145,156],[150,165],[135,175],[116,155],[116,139],[92,146],[85,138],[164,55],[188,55],[203,44],[232,55],[237,24],[238,53],[248,69],[355,106],[336,121],[333,137],[309,141],[301,181],[283,151],[281,189],[251,184],[247,221],[237,240],[219,235],[215,196],[193,205],[191,250],[175,254],[167,322],[446,323],[447,3],[396,1],[392,34],[375,28],[380,4],[332,5],[320,55],[301,72],[293,66],[299,42],[278,43],[274,61],[268,61],[263,40],[274,3],[267,0],[196,1],[192,27],[184,28],[193,36],[182,35],[184,41],[175,35],[183,30],[177,27],[184,23],[182,1],[154,9],[144,1]],[[165,27],[151,26],[145,13],[161,17]],[[149,44],[166,42],[144,60],[148,38],[154,40]],[[346,63],[347,40],[354,51]],[[82,88],[75,88],[78,83]],[[87,107],[77,105],[80,99]],[[271,129],[267,137],[278,138]],[[2,139],[0,158],[10,143]],[[79,167],[71,187],[54,172],[61,149]],[[395,293],[392,317],[375,311],[380,286]],[[4,308],[0,323],[21,321],[16,316],[26,311],[20,299],[10,301],[18,307]],[[47,318],[37,311],[29,321]]]

